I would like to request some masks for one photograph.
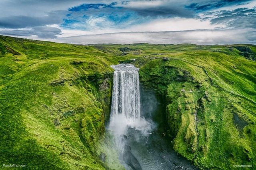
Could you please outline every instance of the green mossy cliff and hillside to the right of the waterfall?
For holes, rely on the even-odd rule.
[[[255,62],[193,53],[135,61],[142,84],[166,100],[170,144],[201,168],[255,166]]]

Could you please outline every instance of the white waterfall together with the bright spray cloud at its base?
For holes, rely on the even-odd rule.
[[[139,69],[132,64],[111,67],[115,71],[109,130],[113,132],[117,147],[122,152],[128,128],[139,130],[143,136],[147,136],[152,124],[140,117]]]

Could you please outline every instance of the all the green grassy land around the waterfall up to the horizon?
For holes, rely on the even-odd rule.
[[[0,36],[0,163],[122,168],[116,154],[100,160],[110,152],[100,143],[110,114],[109,66],[132,62],[141,83],[164,99],[164,133],[176,152],[202,169],[256,167],[255,58],[256,45],[72,45]]]

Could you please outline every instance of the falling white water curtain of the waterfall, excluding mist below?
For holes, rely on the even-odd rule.
[[[129,121],[140,119],[138,68],[132,64],[111,65],[114,71],[111,118],[121,114]]]

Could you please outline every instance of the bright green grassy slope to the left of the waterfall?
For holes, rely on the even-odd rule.
[[[0,47],[0,163],[104,169],[96,145],[109,114],[109,65],[120,57],[4,36]]]

